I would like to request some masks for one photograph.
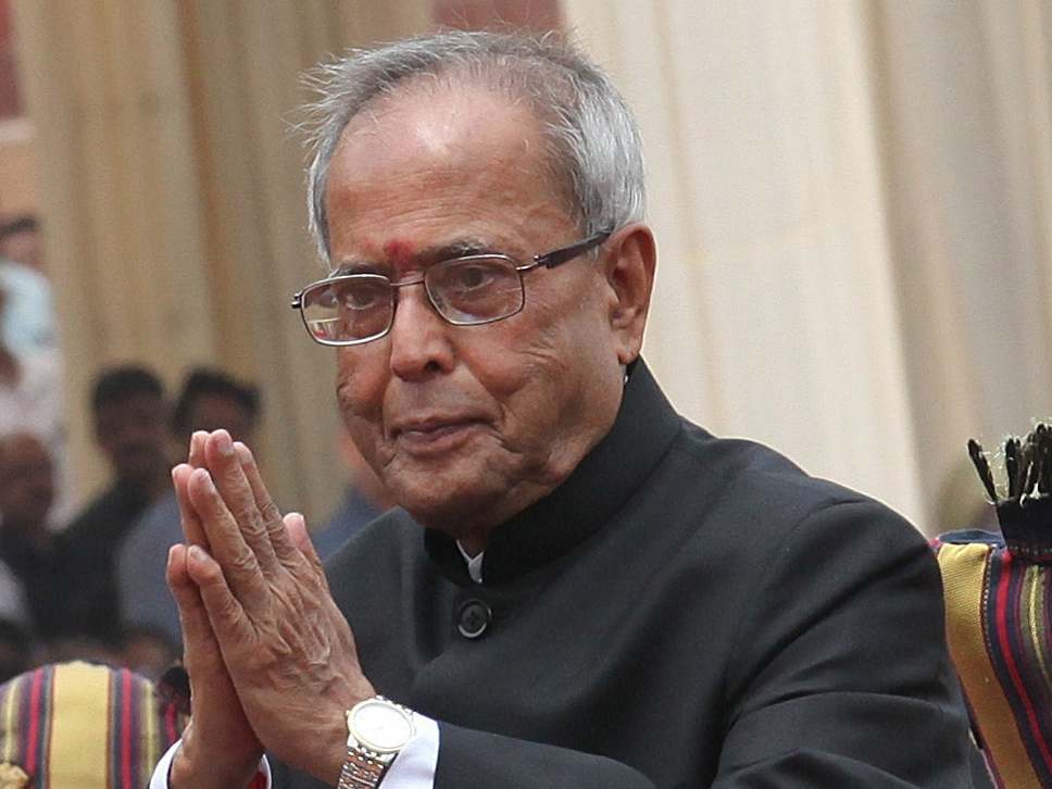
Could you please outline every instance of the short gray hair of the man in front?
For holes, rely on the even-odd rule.
[[[587,235],[642,218],[639,130],[599,66],[554,34],[447,30],[352,50],[308,75],[318,96],[305,108],[312,154],[308,211],[323,260],[329,260],[328,170],[343,129],[374,100],[416,86],[421,77],[525,100],[541,122],[549,165],[564,187],[567,209]]]

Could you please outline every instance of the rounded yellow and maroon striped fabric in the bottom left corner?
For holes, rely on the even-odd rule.
[[[0,789],[142,789],[185,723],[126,668],[42,666],[0,686]]]

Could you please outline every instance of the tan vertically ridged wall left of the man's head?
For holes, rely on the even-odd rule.
[[[424,29],[429,4],[321,0],[22,0],[16,30],[71,391],[74,462],[104,478],[84,418],[101,365],[176,383],[212,363],[260,383],[279,502],[326,513],[331,352],[288,308],[316,276],[298,75],[351,45]]]

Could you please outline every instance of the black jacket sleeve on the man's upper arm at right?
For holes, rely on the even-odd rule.
[[[728,663],[714,789],[973,786],[920,535],[875,502],[831,504],[766,566]]]

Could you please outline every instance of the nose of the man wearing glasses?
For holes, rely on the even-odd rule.
[[[417,380],[453,368],[452,328],[431,305],[423,284],[400,288],[391,324],[391,371]]]

